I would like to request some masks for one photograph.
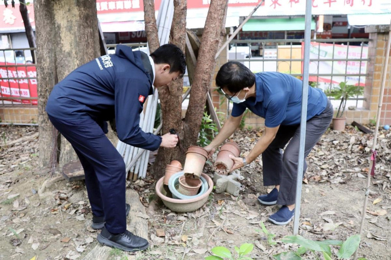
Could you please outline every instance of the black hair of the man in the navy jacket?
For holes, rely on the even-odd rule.
[[[160,46],[151,57],[156,64],[167,63],[170,65],[170,73],[178,72],[180,75],[185,74],[186,59],[183,52],[178,46],[168,43]]]

